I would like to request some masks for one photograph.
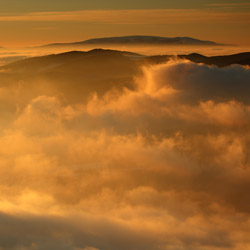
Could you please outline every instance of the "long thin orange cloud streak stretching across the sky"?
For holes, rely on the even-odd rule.
[[[210,9],[80,10],[2,14],[0,21],[78,21],[115,24],[249,23],[250,13]]]

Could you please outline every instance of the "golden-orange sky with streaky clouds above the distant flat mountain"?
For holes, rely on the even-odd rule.
[[[250,1],[1,1],[0,46],[122,35],[190,36],[250,45]]]

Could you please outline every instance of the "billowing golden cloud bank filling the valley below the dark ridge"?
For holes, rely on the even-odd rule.
[[[0,248],[249,248],[249,80],[171,61],[86,102],[34,92],[1,131]]]

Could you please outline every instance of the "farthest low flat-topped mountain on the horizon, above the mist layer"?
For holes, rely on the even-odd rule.
[[[73,43],[54,43],[42,47],[72,47],[83,45],[222,45],[212,41],[202,41],[191,37],[122,36],[95,38]]]

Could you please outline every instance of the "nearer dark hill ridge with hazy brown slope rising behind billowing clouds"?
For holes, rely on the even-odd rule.
[[[142,65],[164,63],[172,57],[102,49],[33,57],[1,66],[0,88],[18,89],[22,96],[18,103],[20,107],[40,95],[60,97],[66,104],[80,103],[93,92],[101,96],[112,88],[117,91],[124,87],[134,89],[134,77],[142,73]],[[219,67],[235,63],[250,65],[249,52],[215,57],[200,54],[178,57]]]

